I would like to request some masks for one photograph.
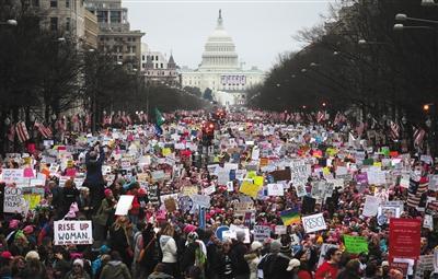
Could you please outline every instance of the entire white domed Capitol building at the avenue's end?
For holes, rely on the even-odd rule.
[[[203,94],[210,89],[214,100],[224,106],[243,105],[246,89],[263,82],[264,72],[256,67],[245,70],[242,65],[219,10],[217,26],[205,44],[198,69],[181,69],[182,85],[199,88]]]

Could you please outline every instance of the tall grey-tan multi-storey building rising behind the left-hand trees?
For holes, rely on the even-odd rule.
[[[140,69],[145,33],[130,30],[128,9],[122,7],[122,0],[90,0],[85,8],[97,16],[99,49],[113,53],[115,60],[130,70]]]

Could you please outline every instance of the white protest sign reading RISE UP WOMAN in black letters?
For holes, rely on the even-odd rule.
[[[55,245],[93,244],[91,221],[60,220],[54,222]]]

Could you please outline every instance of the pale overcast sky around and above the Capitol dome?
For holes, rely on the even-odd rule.
[[[321,23],[333,0],[123,0],[131,30],[146,32],[152,50],[172,50],[180,66],[196,68],[222,9],[223,25],[245,67],[268,70],[280,53],[299,49],[292,36]]]

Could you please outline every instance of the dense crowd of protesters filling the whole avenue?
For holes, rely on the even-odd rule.
[[[273,118],[251,111],[229,113],[214,124],[214,137],[207,138],[205,129],[203,135],[206,115],[170,114],[161,127],[113,129],[106,123],[97,136],[76,133],[61,146],[42,144],[32,153],[7,154],[2,173],[31,167],[35,176],[44,174],[44,185],[34,186],[42,189],[37,205],[30,207],[23,198],[27,205],[22,211],[4,212],[5,188],[23,186],[22,181],[0,179],[0,277],[438,277],[434,179],[438,172],[431,156],[392,150],[394,146],[387,152],[367,138],[364,127],[360,132],[348,128],[346,117],[333,123],[318,117]],[[293,177],[275,177],[275,172],[290,170],[297,160],[310,170],[302,185],[304,196]],[[357,178],[369,167],[362,161],[369,160],[370,167],[387,174],[385,182],[376,185]],[[347,174],[341,174],[341,168]],[[415,193],[403,182],[406,174],[410,182],[420,184]],[[242,185],[254,186],[254,176],[263,179],[251,195]],[[318,195],[318,182],[330,181],[342,185],[334,185],[330,195]],[[281,194],[268,195],[273,182],[281,184]],[[193,188],[195,193],[186,191]],[[420,257],[434,255],[431,267],[420,258],[414,258],[407,271],[392,265],[390,220],[364,213],[367,196],[378,196],[377,189],[384,189],[381,202],[401,201],[397,218],[422,221]],[[196,204],[193,196],[200,195],[209,197],[208,207]],[[123,196],[134,196],[131,205],[126,214],[116,214]],[[315,201],[310,209],[303,206],[306,198]],[[242,212],[241,205],[249,208]],[[301,217],[323,213],[326,229],[309,233],[300,221],[285,225],[281,212],[291,209]],[[429,218],[431,223],[425,224]],[[54,222],[59,220],[91,220],[93,243],[56,245]],[[256,240],[254,226],[262,225],[269,233]],[[368,246],[360,253],[348,252],[345,235],[361,236]],[[323,252],[323,247],[328,248]]]

